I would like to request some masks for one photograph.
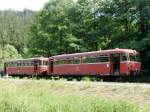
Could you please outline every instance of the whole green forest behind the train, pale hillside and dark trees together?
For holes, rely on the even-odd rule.
[[[0,11],[1,68],[7,59],[112,48],[139,51],[150,73],[150,0],[50,0],[40,11]]]

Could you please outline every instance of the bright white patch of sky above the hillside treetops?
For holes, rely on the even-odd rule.
[[[22,11],[31,9],[38,11],[44,7],[49,0],[0,0],[0,10],[13,9]]]

